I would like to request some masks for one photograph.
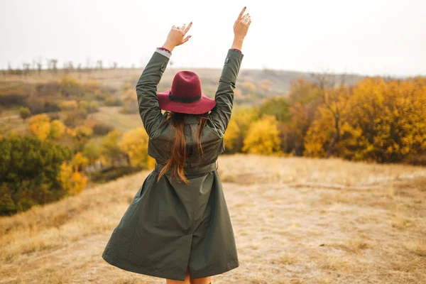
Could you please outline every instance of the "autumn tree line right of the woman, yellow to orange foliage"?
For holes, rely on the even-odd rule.
[[[286,97],[236,109],[228,152],[426,164],[426,78],[331,79],[297,80]]]

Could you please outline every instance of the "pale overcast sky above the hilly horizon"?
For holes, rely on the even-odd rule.
[[[174,66],[222,67],[244,6],[242,68],[426,75],[426,0],[0,0],[0,68],[37,58],[141,67],[190,21]]]

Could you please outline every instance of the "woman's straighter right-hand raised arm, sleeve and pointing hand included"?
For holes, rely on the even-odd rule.
[[[246,7],[239,13],[234,23],[234,42],[226,55],[222,75],[219,79],[219,86],[214,96],[214,99],[216,99],[216,106],[210,113],[210,119],[217,129],[222,132],[222,135],[224,135],[229,120],[231,119],[236,78],[238,77],[241,61],[244,57],[241,53],[241,49],[251,24],[250,15],[249,13],[244,15],[245,11]]]

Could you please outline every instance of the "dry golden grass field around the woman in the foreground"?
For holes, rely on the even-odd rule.
[[[0,219],[0,283],[152,284],[101,254],[149,171]],[[240,267],[212,283],[426,283],[426,168],[223,155]]]

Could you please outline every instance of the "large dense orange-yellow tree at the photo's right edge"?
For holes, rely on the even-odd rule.
[[[338,99],[335,114],[322,106],[307,133],[306,155],[322,157],[340,129],[334,155],[351,160],[398,163],[426,152],[426,80],[366,78]]]

